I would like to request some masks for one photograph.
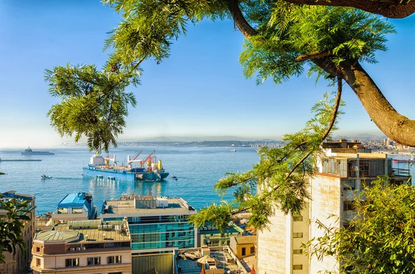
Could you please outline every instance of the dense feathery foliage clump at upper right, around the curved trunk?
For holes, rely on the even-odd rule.
[[[329,74],[300,55],[328,52],[328,61],[341,67],[344,61],[376,63],[376,50],[387,50],[385,35],[394,27],[374,14],[353,8],[324,6],[275,6],[268,10],[267,28],[246,40],[240,62],[246,77],[257,73],[257,83],[272,77],[281,84],[301,75],[304,64],[324,77]]]

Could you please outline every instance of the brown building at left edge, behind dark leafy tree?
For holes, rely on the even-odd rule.
[[[16,193],[14,190],[1,193],[0,199],[8,201],[9,199],[17,199],[18,202],[28,201],[27,209],[30,211],[28,216],[30,221],[24,221],[24,229],[22,231],[22,237],[26,243],[26,251],[22,251],[19,246],[16,247],[16,255],[13,256],[11,253],[3,252],[6,257],[6,263],[0,264],[1,274],[26,274],[28,273],[29,262],[30,262],[30,250],[32,248],[33,236],[35,235],[35,195],[27,195]],[[0,210],[0,216],[4,215],[6,211]]]

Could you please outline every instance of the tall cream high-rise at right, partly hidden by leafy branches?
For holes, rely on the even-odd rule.
[[[393,159],[386,154],[371,153],[358,142],[340,140],[322,146],[326,156],[309,180],[311,200],[302,216],[293,218],[277,210],[268,229],[258,234],[257,264],[261,274],[335,271],[339,268],[335,257],[317,260],[304,254],[302,244],[324,234],[315,220],[328,227],[347,226],[354,216],[351,201],[365,184],[370,186],[379,175],[388,176],[396,184],[409,180],[409,170],[392,168]]]

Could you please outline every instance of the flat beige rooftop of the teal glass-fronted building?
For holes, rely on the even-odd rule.
[[[101,216],[109,215],[133,215],[133,216],[150,216],[150,215],[190,215],[196,213],[196,210],[187,204],[182,198],[155,197],[167,199],[167,206],[158,206],[156,208],[136,208],[134,199],[114,199],[104,201],[104,210]],[[105,205],[106,203],[106,205]]]

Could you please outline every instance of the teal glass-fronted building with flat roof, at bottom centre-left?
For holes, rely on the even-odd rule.
[[[171,274],[174,251],[196,247],[196,229],[187,222],[195,213],[181,198],[131,194],[104,201],[100,218],[104,222],[127,218],[133,273],[154,269],[159,274]]]

